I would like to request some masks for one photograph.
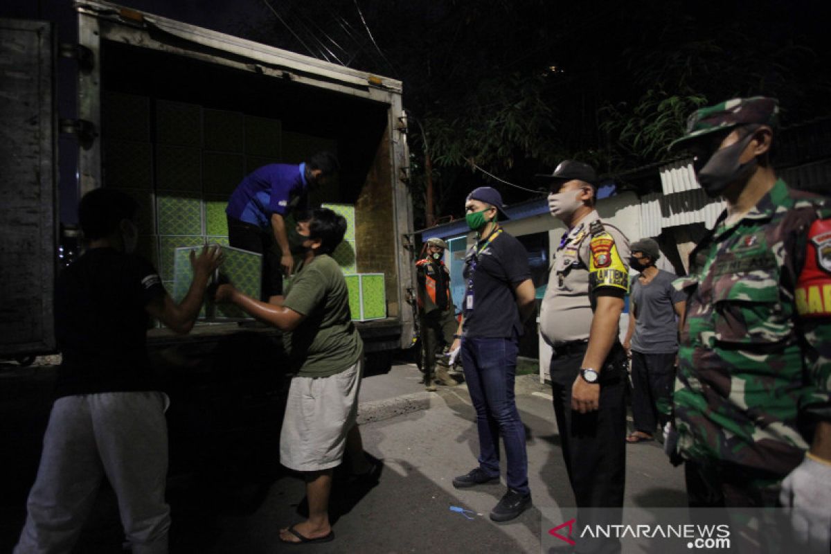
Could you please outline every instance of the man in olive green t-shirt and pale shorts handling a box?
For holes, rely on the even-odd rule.
[[[310,218],[297,223],[302,262],[282,305],[246,297],[231,285],[216,292],[218,302],[234,302],[284,331],[289,360],[297,371],[280,432],[280,463],[306,478],[309,517],[283,528],[283,542],[329,542],[335,537],[328,516],[329,493],[332,468],[342,462],[345,451],[354,473],[377,470],[364,456],[355,423],[363,342],[352,324],[347,282],[329,256],[346,229],[346,220],[326,208],[313,210]]]

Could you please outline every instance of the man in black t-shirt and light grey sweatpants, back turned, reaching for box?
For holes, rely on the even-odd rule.
[[[132,252],[137,204],[96,189],[81,199],[86,252],[58,277],[55,331],[63,354],[37,479],[15,554],[71,552],[107,478],[134,554],[167,552],[167,395],[150,371],[148,317],[194,325],[218,249],[191,255],[194,280],[176,304],[149,262]]]

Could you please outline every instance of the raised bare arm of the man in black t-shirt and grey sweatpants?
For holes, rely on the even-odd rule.
[[[199,316],[199,307],[202,306],[210,275],[222,262],[221,253],[219,248],[205,247],[199,257],[195,257],[191,251],[190,263],[194,267],[194,279],[190,282],[184,300],[177,304],[170,294],[165,294],[145,306],[147,313],[179,334],[189,333],[194,327],[196,316]]]

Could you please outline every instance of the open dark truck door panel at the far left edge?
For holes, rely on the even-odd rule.
[[[0,18],[0,357],[55,349],[52,25]]]

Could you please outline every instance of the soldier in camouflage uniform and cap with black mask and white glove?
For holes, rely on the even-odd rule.
[[[776,178],[778,111],[764,97],[702,108],[671,145],[727,208],[675,283],[687,316],[667,444],[691,505],[793,506],[828,552],[831,201]]]

